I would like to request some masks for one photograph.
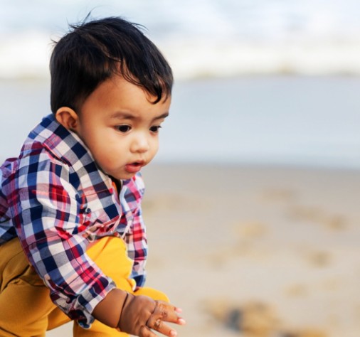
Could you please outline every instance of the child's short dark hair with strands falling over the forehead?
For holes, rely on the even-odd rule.
[[[85,19],[85,21],[87,18]],[[51,110],[70,107],[77,111],[85,99],[112,75],[144,87],[157,97],[171,95],[169,64],[136,23],[109,17],[70,25],[55,44],[50,61]]]

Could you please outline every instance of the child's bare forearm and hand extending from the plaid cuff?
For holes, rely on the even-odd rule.
[[[184,325],[178,314],[181,309],[148,296],[134,296],[114,289],[97,306],[92,315],[107,326],[139,337],[153,337],[151,329],[165,336],[177,336],[176,331],[164,322]]]

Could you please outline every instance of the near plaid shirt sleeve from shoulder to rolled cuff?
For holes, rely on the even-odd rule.
[[[85,210],[68,166],[29,160],[18,176],[18,237],[53,302],[88,328],[93,309],[115,284],[86,255],[88,240],[81,231]]]

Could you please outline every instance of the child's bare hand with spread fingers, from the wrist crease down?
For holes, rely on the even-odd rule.
[[[181,309],[164,301],[128,294],[122,307],[118,328],[139,337],[157,336],[152,330],[174,337],[177,336],[176,331],[165,322],[184,325],[185,321],[178,316],[179,313]]]

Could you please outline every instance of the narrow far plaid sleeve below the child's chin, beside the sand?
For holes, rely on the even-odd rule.
[[[132,223],[124,239],[127,244],[127,254],[134,261],[131,277],[137,283],[137,287],[143,287],[146,281],[147,233],[142,218],[144,189],[142,176],[137,173],[134,178],[124,184],[123,193],[120,194],[122,209],[129,209],[131,212]],[[127,213],[125,213],[125,217],[129,221],[130,217],[127,216]]]

